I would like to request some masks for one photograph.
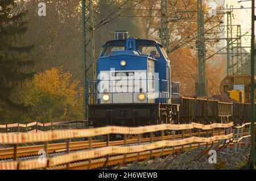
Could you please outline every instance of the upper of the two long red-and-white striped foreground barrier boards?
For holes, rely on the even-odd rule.
[[[27,142],[46,142],[54,140],[62,140],[67,138],[94,137],[105,134],[142,134],[156,131],[172,130],[180,131],[185,129],[214,129],[214,128],[230,128],[233,123],[228,124],[210,124],[203,125],[199,123],[191,124],[160,124],[144,127],[102,127],[88,129],[68,129],[55,132],[30,133],[30,134],[0,134],[0,144],[24,144]]]

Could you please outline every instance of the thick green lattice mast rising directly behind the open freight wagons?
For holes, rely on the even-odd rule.
[[[196,40],[198,56],[198,82],[196,83],[196,95],[207,96],[207,81],[205,68],[205,37],[204,37],[204,12],[203,0],[197,0],[197,33]]]

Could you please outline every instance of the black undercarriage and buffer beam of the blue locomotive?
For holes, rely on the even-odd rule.
[[[91,104],[88,107],[88,120],[93,127],[179,124],[178,115],[178,104]]]

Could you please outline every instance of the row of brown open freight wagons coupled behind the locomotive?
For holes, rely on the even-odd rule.
[[[242,125],[250,121],[250,104],[222,102],[205,98],[180,98],[179,123],[229,123]]]

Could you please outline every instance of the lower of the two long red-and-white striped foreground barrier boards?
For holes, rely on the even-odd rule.
[[[106,155],[138,153],[142,151],[154,150],[154,149],[159,149],[164,147],[181,146],[181,145],[194,144],[194,143],[207,143],[207,142],[213,142],[213,141],[224,140],[224,139],[227,140],[232,137],[233,137],[233,134],[231,133],[231,134],[213,136],[213,137],[189,137],[181,140],[163,140],[163,141],[157,141],[157,142],[143,144],[143,145],[106,146],[104,148],[98,148],[98,149],[87,150],[87,151],[76,151],[75,153],[68,153],[65,155],[57,155],[53,158],[48,158],[48,165],[47,163],[39,162],[38,159],[20,161],[19,169],[21,170],[42,169],[47,166],[52,167],[52,166],[57,166],[64,163],[104,157]],[[18,169],[18,162],[11,161],[11,162],[0,163],[0,170],[1,169],[14,169],[14,170]]]

